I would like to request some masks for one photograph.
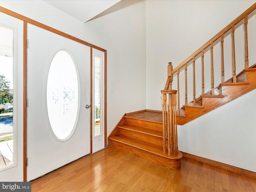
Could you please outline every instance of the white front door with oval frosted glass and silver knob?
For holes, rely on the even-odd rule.
[[[27,35],[29,181],[90,153],[90,47],[32,24]]]

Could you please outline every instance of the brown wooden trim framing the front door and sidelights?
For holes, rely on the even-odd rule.
[[[92,68],[92,48],[95,48],[97,50],[100,50],[104,52],[104,146],[107,146],[107,50],[100,48],[96,45],[90,44],[84,40],[81,40],[79,38],[76,38],[74,36],[71,36],[69,34],[66,34],[60,30],[56,30],[55,28],[52,28],[50,26],[47,26],[45,24],[42,24],[40,22],[37,22],[36,20],[32,20],[26,16],[23,16],[21,14],[18,14],[16,12],[13,12],[11,10],[8,10],[2,6],[0,6],[0,12],[10,15],[14,18],[18,18],[19,20],[23,20],[23,180],[24,182],[27,181],[27,168],[26,168],[26,159],[27,159],[27,107],[26,107],[26,101],[27,101],[27,46],[26,46],[26,40],[27,40],[27,24],[33,24],[35,26],[38,26],[40,28],[43,28],[45,30],[48,30],[50,32],[54,32],[60,36],[66,37],[68,39],[74,40],[76,42],[79,42],[81,44],[84,44],[86,46],[89,46],[91,48],[91,68]],[[92,72],[92,69],[91,69]],[[92,82],[92,74],[91,74],[91,82]],[[92,98],[92,88],[90,90],[91,92],[91,98]],[[92,103],[92,100],[91,100]],[[91,110],[91,127],[90,130],[92,132],[92,110]],[[91,149],[92,149],[92,138],[91,138]]]

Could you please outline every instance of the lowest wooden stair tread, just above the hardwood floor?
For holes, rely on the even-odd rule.
[[[173,159],[172,156],[168,156],[168,153],[163,152],[163,147],[154,145],[149,142],[143,142],[143,141],[138,141],[132,138],[127,138],[125,136],[120,136],[120,135],[114,135],[110,137],[110,140],[115,140],[130,146],[133,146],[135,148],[139,148],[141,150],[150,152],[152,154],[156,154],[159,156],[163,156],[165,158]]]

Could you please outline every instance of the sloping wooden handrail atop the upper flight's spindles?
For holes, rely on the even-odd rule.
[[[250,14],[253,10],[256,9],[256,3],[254,3],[250,8],[248,8],[245,12],[243,12],[238,18],[236,18],[234,21],[232,21],[228,26],[226,26],[224,29],[222,29],[218,34],[216,34],[213,38],[211,38],[208,42],[206,42],[202,47],[200,47],[196,52],[194,52],[192,55],[190,55],[188,58],[186,58],[181,64],[176,66],[172,70],[172,74],[177,72],[178,69],[182,68],[186,63],[190,62],[194,57],[196,57],[198,54],[202,52],[205,48],[210,46],[211,43],[215,42],[218,38],[222,36],[222,34],[226,33],[228,30],[232,28],[232,26],[236,25],[238,22],[240,22],[242,19],[244,19],[248,14]]]

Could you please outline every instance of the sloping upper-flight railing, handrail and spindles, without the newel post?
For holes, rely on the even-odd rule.
[[[248,8],[248,10],[246,10],[244,13],[238,16],[238,18],[236,18],[233,22],[231,22],[228,26],[226,26],[223,30],[221,30],[218,34],[216,34],[213,38],[211,38],[208,42],[206,42],[206,44],[204,44],[202,47],[196,50],[196,52],[194,52],[186,60],[184,60],[181,64],[179,64],[177,67],[175,67],[172,70],[172,77],[175,76],[175,84],[173,83],[173,87],[175,87],[175,89],[177,90],[178,115],[181,114],[180,106],[182,106],[182,104],[184,104],[185,106],[187,105],[196,106],[197,105],[196,102],[198,101],[196,98],[198,96],[218,95],[219,92],[218,90],[215,89],[215,86],[218,86],[220,83],[224,83],[225,79],[226,80],[230,79],[230,82],[236,83],[237,82],[236,71],[238,71],[239,69],[243,70],[244,68],[249,68],[248,18],[249,18],[249,14],[252,13],[255,9],[256,9],[256,3],[254,3],[250,8]],[[250,18],[253,19],[252,23],[255,23],[254,14],[255,12],[253,13],[253,17],[252,15],[250,16]],[[244,31],[240,32],[241,31],[240,26],[242,25],[244,25]],[[244,37],[237,36],[235,38],[235,29],[238,30],[238,35],[242,34]],[[252,34],[251,38],[254,38],[255,32],[251,34]],[[224,44],[224,40],[228,42],[226,45]],[[235,40],[237,43],[236,46],[235,46]],[[255,41],[256,41],[255,38],[250,41],[252,46],[254,47],[255,47]],[[229,43],[230,43],[230,46],[229,46]],[[228,50],[228,48],[230,49]],[[239,48],[238,50],[239,52],[236,52],[235,48]],[[214,49],[216,49],[215,54],[213,51]],[[242,52],[241,52],[241,49],[242,49]],[[206,52],[208,54],[207,55],[208,60],[205,59]],[[241,58],[241,56],[244,56],[244,65],[238,66],[236,64],[236,59],[240,64],[242,59],[239,59],[239,58]],[[217,62],[214,62],[214,59],[217,60]],[[228,59],[230,60],[231,65],[228,65],[229,64]],[[224,65],[225,60],[226,60],[225,64],[228,63],[226,65]],[[231,66],[230,70],[228,70],[229,66]],[[209,70],[207,71],[205,67],[209,68]],[[227,74],[224,69],[227,71]],[[182,81],[183,82],[185,81],[183,86],[185,90],[182,90],[182,93],[184,94],[182,95],[183,100],[181,104],[180,103],[180,100],[181,100],[180,74],[182,71],[183,71],[182,77],[184,77]],[[206,71],[208,72],[207,75],[205,75]],[[218,71],[220,71],[219,74],[214,74],[214,72],[218,72]],[[190,72],[190,75],[188,75],[188,72]],[[205,76],[207,76],[207,79],[205,79]],[[188,81],[188,78],[190,78],[189,81]],[[207,84],[205,84],[206,80],[209,81]],[[205,90],[210,90],[210,91],[205,92]],[[190,96],[188,94],[190,94]],[[192,100],[192,102],[188,104],[188,100]]]

